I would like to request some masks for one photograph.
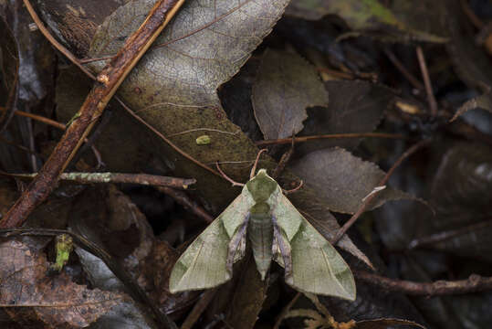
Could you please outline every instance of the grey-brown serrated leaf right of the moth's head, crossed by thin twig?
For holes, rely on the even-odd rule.
[[[384,172],[371,162],[363,161],[341,148],[310,153],[291,165],[326,200],[330,210],[353,214],[361,207],[362,199],[378,186]],[[403,191],[386,187],[378,193],[370,209],[387,201],[413,199]]]

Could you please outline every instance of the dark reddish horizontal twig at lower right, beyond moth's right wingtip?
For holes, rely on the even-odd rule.
[[[414,282],[390,279],[368,271],[354,271],[358,280],[366,281],[391,292],[403,292],[411,295],[442,296],[469,292],[492,290],[492,277],[472,274],[466,280]]]

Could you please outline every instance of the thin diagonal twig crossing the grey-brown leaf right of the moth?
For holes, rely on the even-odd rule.
[[[385,186],[386,183],[388,183],[388,180],[390,179],[390,177],[393,175],[394,170],[400,164],[403,163],[403,160],[406,159],[407,157],[409,157],[410,155],[414,154],[415,152],[417,152],[421,147],[423,147],[427,143],[430,143],[430,141],[431,140],[423,140],[423,141],[420,141],[419,143],[413,144],[412,147],[410,147],[404,154],[402,154],[400,156],[400,158],[398,158],[398,160],[393,164],[393,166],[390,168],[390,170],[388,170],[388,172],[386,173],[386,175],[384,175],[384,177],[382,177],[382,180],[378,183],[377,186]],[[382,189],[380,189],[379,191],[381,191],[381,190]],[[367,196],[366,197],[366,199],[365,199],[365,201],[363,201],[361,207],[359,207],[359,209],[357,209],[357,212],[352,215],[351,219],[349,219],[339,229],[339,231],[337,232],[337,234],[335,235],[335,237],[330,241],[332,245],[335,245],[341,239],[341,237],[343,237],[343,235],[345,234],[345,232],[347,232],[347,230],[349,228],[351,228],[351,226],[355,223],[355,221],[359,217],[361,217],[362,213],[367,209],[367,207],[369,207],[369,205],[371,204],[371,202],[374,199],[374,197],[376,197],[378,195],[378,192],[379,191],[377,191],[375,193],[372,193],[370,196]]]

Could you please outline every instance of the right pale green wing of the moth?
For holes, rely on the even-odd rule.
[[[288,212],[290,220],[294,218],[294,221],[299,222],[297,232],[291,239],[288,237],[292,271],[286,271],[286,282],[301,292],[355,300],[355,281],[349,265],[330,242],[300,215],[286,196],[279,200],[278,206],[280,204],[288,210],[285,212]],[[277,216],[275,211],[274,216]],[[278,226],[283,230],[284,222],[285,220],[277,218]],[[291,226],[289,224],[288,228]]]

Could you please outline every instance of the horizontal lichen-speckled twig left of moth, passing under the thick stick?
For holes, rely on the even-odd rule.
[[[2,172],[0,172],[0,175],[8,175],[19,178],[34,178],[37,176],[37,174],[7,174]],[[123,183],[144,186],[168,186],[180,189],[186,189],[188,186],[196,183],[196,179],[194,178],[186,179],[161,175],[119,173],[63,173],[59,176],[59,179],[78,182],[80,184]]]

